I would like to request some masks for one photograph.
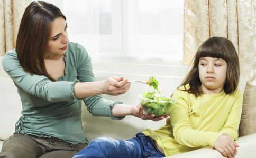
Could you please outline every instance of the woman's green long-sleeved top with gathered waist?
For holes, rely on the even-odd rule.
[[[56,137],[77,144],[88,143],[81,123],[81,100],[76,98],[76,82],[93,82],[92,63],[85,48],[69,43],[65,53],[65,73],[56,82],[42,75],[32,75],[23,70],[15,50],[3,58],[3,68],[11,76],[22,102],[22,117],[15,125],[21,134],[39,137]],[[86,90],[85,90],[86,91]],[[112,108],[117,103],[101,95],[83,99],[94,116],[113,119]]]

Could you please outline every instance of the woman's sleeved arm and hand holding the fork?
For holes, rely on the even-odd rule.
[[[24,71],[17,59],[15,50],[11,50],[4,56],[2,64],[4,70],[18,87],[49,102],[73,101],[76,98],[98,94],[119,95],[125,93],[130,86],[130,83],[127,83],[127,80],[123,80],[122,77],[110,77],[105,81],[85,83],[52,82],[43,75],[32,75]]]

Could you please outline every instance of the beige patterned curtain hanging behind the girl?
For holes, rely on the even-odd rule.
[[[256,132],[256,1],[185,0],[184,64],[190,64],[199,45],[212,36],[226,37],[239,53],[243,96],[240,136]]]

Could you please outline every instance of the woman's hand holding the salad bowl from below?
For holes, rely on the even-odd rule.
[[[139,117],[143,120],[153,120],[153,121],[159,121],[159,120],[169,117],[169,115],[159,116],[159,117],[155,117],[154,114],[149,115],[143,111],[143,107],[141,107],[141,105],[133,106],[131,108],[131,114],[133,116]]]

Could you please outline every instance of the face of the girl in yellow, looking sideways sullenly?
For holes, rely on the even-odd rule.
[[[220,93],[226,81],[227,63],[221,58],[202,57],[198,64],[204,94]]]

